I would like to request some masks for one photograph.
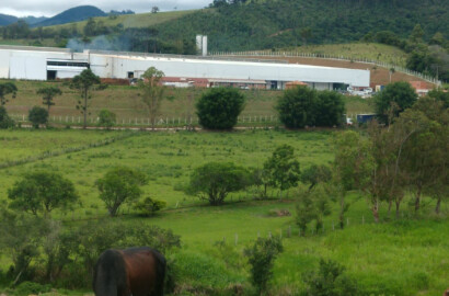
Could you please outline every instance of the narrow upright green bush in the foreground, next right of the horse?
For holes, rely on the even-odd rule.
[[[273,265],[277,255],[283,252],[280,238],[258,238],[252,248],[246,248],[244,254],[251,265],[251,282],[258,293],[267,289],[268,281],[273,276]]]

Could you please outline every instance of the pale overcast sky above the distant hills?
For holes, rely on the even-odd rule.
[[[54,16],[79,5],[95,5],[105,12],[130,9],[136,13],[149,12],[152,7],[161,11],[188,10],[207,7],[212,0],[0,0],[0,13],[15,16]]]

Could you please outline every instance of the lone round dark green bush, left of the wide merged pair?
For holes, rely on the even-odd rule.
[[[230,129],[235,126],[244,102],[237,89],[211,89],[196,104],[199,124],[210,129]]]

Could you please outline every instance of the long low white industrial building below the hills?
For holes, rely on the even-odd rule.
[[[5,79],[65,79],[87,68],[101,78],[127,79],[139,78],[150,67],[162,70],[166,77],[247,81],[249,84],[265,81],[268,89],[284,89],[290,81],[302,81],[319,90],[332,90],[336,84],[365,88],[370,82],[369,70],[214,57],[0,46],[0,78]]]

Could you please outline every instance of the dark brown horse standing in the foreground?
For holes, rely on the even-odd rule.
[[[143,247],[103,252],[95,265],[96,296],[162,296],[165,258]]]

